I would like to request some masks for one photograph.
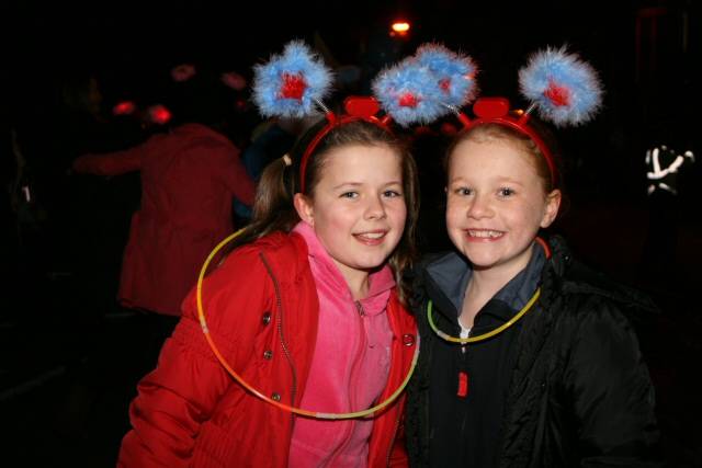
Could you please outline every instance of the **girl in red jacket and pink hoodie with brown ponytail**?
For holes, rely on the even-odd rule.
[[[193,290],[158,367],[138,385],[120,466],[406,465],[404,397],[341,420],[265,401],[355,412],[392,398],[411,372],[417,331],[400,274],[414,254],[417,174],[375,111],[373,99],[348,101],[343,115],[328,113],[271,163],[252,224],[203,282],[222,361],[264,398],[213,353]]]

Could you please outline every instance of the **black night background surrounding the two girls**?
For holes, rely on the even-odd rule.
[[[80,194],[77,204],[90,198],[99,210],[94,216],[83,212],[81,237],[68,240],[80,241],[87,259],[61,256],[56,239],[41,226],[23,230],[12,209],[8,193],[16,168],[10,129],[36,174],[41,168],[68,169],[82,150],[122,149],[162,130],[111,115],[111,110],[123,101],[137,109],[167,102],[173,66],[235,70],[248,79],[254,64],[293,38],[324,44],[330,65],[340,71],[356,66],[369,78],[417,45],[440,42],[475,59],[483,95],[506,95],[517,105],[523,105],[517,72],[531,52],[568,44],[593,65],[604,85],[604,105],[590,124],[559,132],[570,207],[555,230],[580,259],[645,290],[659,305],[659,313],[633,322],[657,390],[664,456],[669,466],[702,466],[702,404],[694,385],[702,308],[693,295],[702,284],[702,196],[697,190],[702,163],[680,174],[678,196],[663,218],[654,217],[646,195],[644,164],[646,149],[659,144],[701,156],[694,125],[701,104],[699,2],[508,7],[364,0],[335,5],[339,13],[331,12],[330,1],[231,2],[227,8],[170,2],[148,9],[106,2],[100,12],[93,4],[80,14],[43,16],[27,2],[4,11],[0,151],[8,190],[2,192],[2,225],[11,229],[3,228],[1,252],[7,278],[0,309],[2,466],[113,466],[136,380],[154,366],[133,345],[139,339],[138,320],[114,300],[128,219],[138,204],[138,175],[90,181],[66,175]],[[410,33],[389,37],[390,21],[400,16],[411,23]],[[90,136],[73,132],[77,127],[63,114],[61,87],[84,76],[95,78],[102,94],[100,129]],[[351,90],[362,89],[361,82]],[[246,102],[248,93],[237,99]],[[253,111],[244,117],[249,121],[241,132],[260,122]],[[437,201],[443,185],[433,172],[441,144],[440,137],[427,139],[416,152],[423,168],[426,250],[445,242]],[[667,233],[657,240],[667,242],[663,249],[670,254],[664,259],[646,254],[652,221],[665,224]],[[81,267],[90,269],[87,283]]]

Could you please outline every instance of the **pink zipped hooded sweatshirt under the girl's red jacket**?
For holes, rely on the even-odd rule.
[[[312,227],[295,229],[307,242],[319,297],[319,328],[302,408],[353,412],[371,408],[385,388],[392,331],[386,309],[395,279],[386,265],[370,276],[366,298],[353,300],[343,275]],[[290,467],[366,467],[373,420],[296,418]]]

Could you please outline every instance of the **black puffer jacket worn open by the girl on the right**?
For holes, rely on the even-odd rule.
[[[573,261],[563,240],[551,248],[541,297],[522,319],[496,466],[658,466],[654,390],[625,317],[654,306]],[[429,381],[441,340],[427,322],[427,266],[412,274],[421,333],[405,427],[412,467],[430,466]]]

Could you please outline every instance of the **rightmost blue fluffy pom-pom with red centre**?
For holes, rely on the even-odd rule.
[[[597,72],[565,47],[532,55],[519,71],[522,94],[556,126],[579,125],[592,118],[602,102]]]

